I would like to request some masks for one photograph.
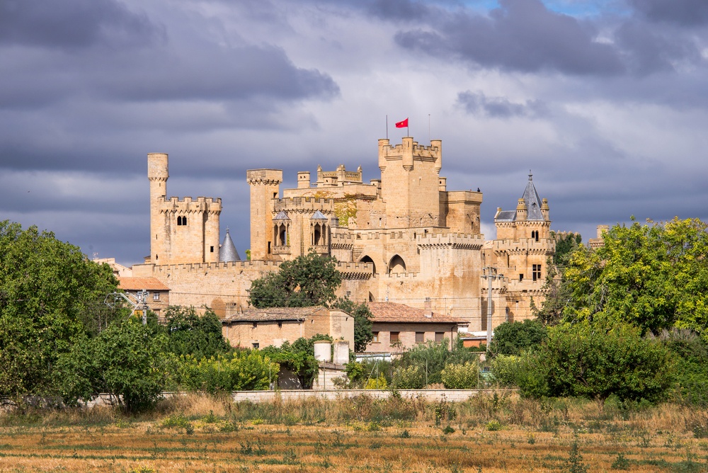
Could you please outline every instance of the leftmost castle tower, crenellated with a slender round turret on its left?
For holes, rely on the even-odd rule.
[[[221,199],[167,198],[168,156],[147,155],[150,261],[157,265],[219,261]]]

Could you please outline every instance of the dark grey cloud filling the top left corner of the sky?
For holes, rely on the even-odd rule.
[[[146,16],[113,0],[0,0],[0,44],[76,49],[161,36]]]

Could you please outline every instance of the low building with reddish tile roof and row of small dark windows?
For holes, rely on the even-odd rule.
[[[452,348],[457,332],[469,322],[455,317],[417,309],[395,302],[368,302],[373,314],[374,339],[365,353],[388,353],[410,350],[420,344],[447,341]]]

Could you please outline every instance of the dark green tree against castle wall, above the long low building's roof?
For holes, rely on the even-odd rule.
[[[314,251],[280,264],[251,283],[249,303],[253,307],[309,307],[329,304],[342,283],[337,260]]]

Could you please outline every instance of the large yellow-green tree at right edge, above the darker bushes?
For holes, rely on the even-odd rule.
[[[623,321],[708,337],[708,232],[698,219],[617,225],[605,246],[581,246],[564,273],[564,318]]]

